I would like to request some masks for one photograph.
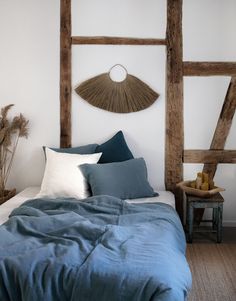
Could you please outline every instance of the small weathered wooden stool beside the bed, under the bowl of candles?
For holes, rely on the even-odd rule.
[[[198,197],[186,194],[187,203],[187,226],[188,226],[188,242],[193,240],[193,223],[195,208],[212,208],[212,220],[203,220],[202,222],[212,222],[212,230],[198,229],[197,232],[214,232],[216,233],[217,243],[222,241],[222,214],[224,199],[220,193],[211,197]]]

